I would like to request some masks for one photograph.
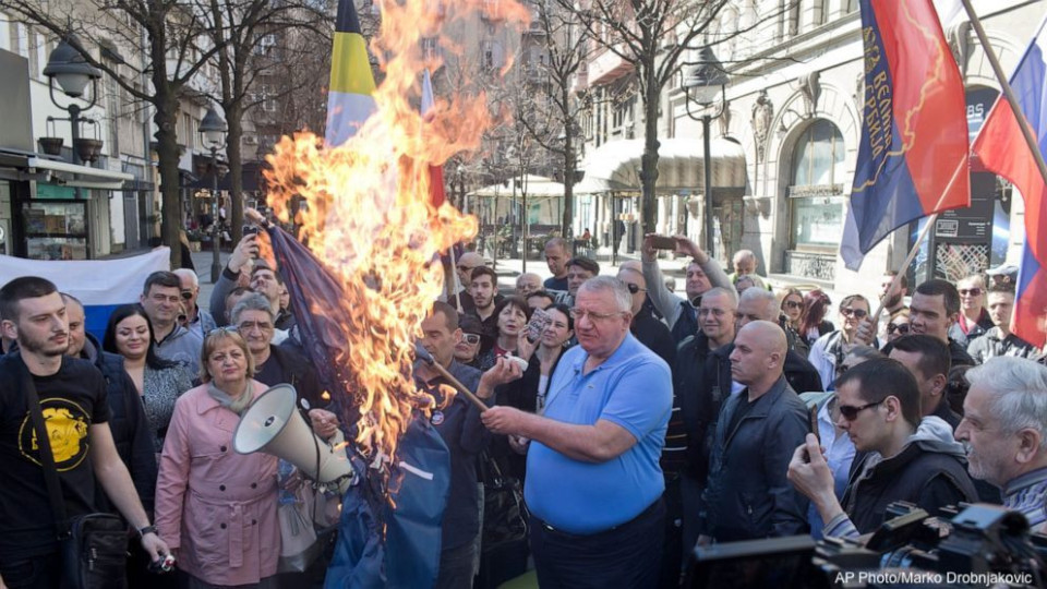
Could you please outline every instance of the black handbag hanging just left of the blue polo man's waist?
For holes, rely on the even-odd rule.
[[[480,455],[483,480],[483,537],[481,552],[527,540],[529,514],[520,481],[505,477],[488,453]]]

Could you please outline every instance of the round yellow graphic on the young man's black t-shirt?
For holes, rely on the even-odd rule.
[[[91,418],[80,405],[69,399],[41,399],[40,408],[56,468],[60,471],[76,468],[87,456]],[[19,437],[22,455],[40,465],[40,444],[32,416],[25,417]]]

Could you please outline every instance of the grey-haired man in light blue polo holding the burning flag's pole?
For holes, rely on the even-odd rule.
[[[532,441],[525,496],[539,585],[653,587],[672,410],[669,365],[629,334],[631,297],[610,276],[578,290],[579,346],[564,352],[542,416],[494,407],[493,432]]]

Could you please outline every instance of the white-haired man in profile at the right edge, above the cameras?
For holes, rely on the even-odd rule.
[[[966,372],[956,440],[967,447],[967,471],[1003,492],[1003,506],[1030,526],[1047,522],[1047,366],[1001,356]]]

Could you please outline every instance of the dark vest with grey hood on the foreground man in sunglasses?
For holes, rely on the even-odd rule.
[[[887,506],[895,501],[914,503],[937,515],[942,507],[977,500],[963,446],[951,437],[948,425],[935,426],[924,420],[896,456],[871,466],[878,454],[855,457],[842,504],[858,532],[878,528]]]

